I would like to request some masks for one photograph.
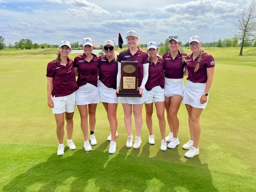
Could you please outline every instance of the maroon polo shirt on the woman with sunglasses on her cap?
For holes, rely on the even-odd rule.
[[[169,79],[182,79],[184,72],[184,64],[182,62],[182,56],[186,56],[186,53],[178,53],[178,55],[172,59],[171,52],[167,52],[163,55],[165,60],[165,77]]]

